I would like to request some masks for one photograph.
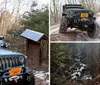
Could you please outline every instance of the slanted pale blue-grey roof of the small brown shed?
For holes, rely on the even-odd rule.
[[[44,33],[36,32],[36,31],[33,31],[33,30],[29,30],[29,29],[26,29],[21,34],[21,36],[25,37],[27,39],[30,39],[32,41],[36,41],[36,42],[38,42],[41,38],[44,38],[44,37],[47,38],[47,36]]]

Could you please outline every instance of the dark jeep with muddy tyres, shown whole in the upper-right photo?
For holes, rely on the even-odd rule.
[[[65,33],[67,28],[77,28],[82,31],[87,31],[89,37],[95,35],[95,18],[91,10],[85,9],[80,4],[65,4],[63,5],[62,21],[59,32]]]

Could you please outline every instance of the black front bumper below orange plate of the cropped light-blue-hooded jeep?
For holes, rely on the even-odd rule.
[[[6,72],[3,74],[3,76],[0,77],[0,85],[24,85],[25,82],[28,81],[28,77],[30,76],[30,69],[27,67],[25,68],[25,72],[20,73],[19,75],[13,75],[9,76],[6,74]],[[7,70],[8,72],[8,70]],[[26,83],[25,83],[26,85]]]

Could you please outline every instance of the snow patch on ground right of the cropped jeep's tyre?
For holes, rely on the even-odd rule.
[[[49,72],[45,71],[34,71],[34,75],[36,78],[43,80],[43,83],[49,85]]]

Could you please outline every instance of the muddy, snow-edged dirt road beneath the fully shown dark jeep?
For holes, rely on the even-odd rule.
[[[75,30],[69,29],[68,33],[59,33],[60,24],[50,27],[50,40],[51,41],[100,41],[100,27],[96,28],[96,33],[94,38],[88,37],[88,35],[83,34]]]

